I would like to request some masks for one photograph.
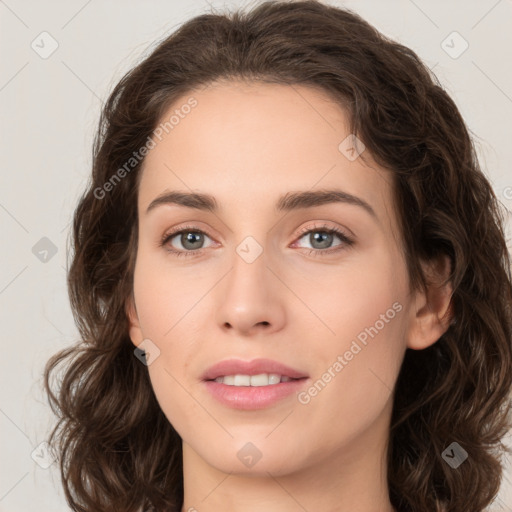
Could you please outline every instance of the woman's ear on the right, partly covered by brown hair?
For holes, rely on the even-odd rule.
[[[448,330],[453,318],[452,283],[442,286],[450,275],[450,258],[442,255],[423,265],[428,286],[426,291],[415,293],[407,332],[407,347],[413,350],[433,345]]]

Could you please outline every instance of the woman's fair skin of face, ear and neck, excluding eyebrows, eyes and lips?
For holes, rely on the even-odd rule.
[[[390,512],[392,389],[406,348],[426,348],[448,328],[441,317],[452,290],[409,293],[391,175],[368,151],[367,163],[340,152],[346,114],[323,91],[219,82],[193,96],[197,107],[145,159],[135,302],[127,304],[134,345],[150,339],[160,350],[148,371],[183,439],[182,512]],[[330,188],[364,199],[376,217],[342,203],[274,208],[288,192]],[[170,190],[212,194],[219,211],[163,205],[146,214]],[[186,225],[206,234],[201,254],[178,258],[159,246]],[[322,245],[301,230],[324,225],[353,244],[333,235],[323,247],[341,250],[308,254]],[[263,249],[252,263],[236,252],[247,236]],[[186,251],[180,240],[167,247]],[[440,277],[448,270],[446,261],[431,268]],[[292,394],[267,409],[235,410],[204,389],[201,374],[213,363],[265,357],[309,375],[307,390],[393,304],[400,311],[308,403]],[[261,453],[252,467],[237,457],[248,442]]]

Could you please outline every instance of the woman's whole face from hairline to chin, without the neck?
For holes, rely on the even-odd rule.
[[[224,82],[184,95],[162,122],[176,110],[145,158],[129,310],[162,411],[189,454],[224,472],[375,455],[419,307],[390,175],[357,157],[344,111],[319,90]],[[148,211],[170,192],[216,209],[188,199]],[[263,365],[204,380],[219,362],[260,358],[304,378],[274,383],[289,372]],[[278,377],[248,387],[256,374]]]

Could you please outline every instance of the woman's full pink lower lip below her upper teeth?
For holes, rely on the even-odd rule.
[[[264,409],[298,392],[307,378],[269,386],[229,386],[214,380],[204,381],[206,389],[221,404],[233,409]]]

